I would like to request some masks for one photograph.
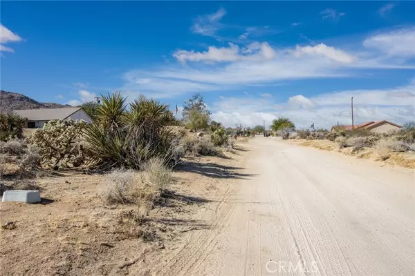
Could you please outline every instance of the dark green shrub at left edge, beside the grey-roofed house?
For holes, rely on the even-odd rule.
[[[26,119],[12,113],[0,113],[0,140],[6,141],[10,137],[23,138],[23,129]]]

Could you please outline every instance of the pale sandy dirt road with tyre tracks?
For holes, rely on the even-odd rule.
[[[160,275],[414,275],[414,175],[257,137],[244,177]]]

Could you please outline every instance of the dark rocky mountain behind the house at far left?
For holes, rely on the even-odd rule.
[[[59,103],[41,103],[23,94],[0,90],[0,112],[18,109],[64,108],[68,106]]]

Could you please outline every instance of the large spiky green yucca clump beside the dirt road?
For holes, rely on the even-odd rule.
[[[139,169],[152,157],[175,164],[178,139],[167,128],[174,121],[167,105],[140,97],[127,109],[119,93],[101,99],[97,119],[85,130],[95,166]]]

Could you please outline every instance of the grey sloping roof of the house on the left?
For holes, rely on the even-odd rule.
[[[39,108],[15,110],[14,112],[30,121],[50,121],[66,119],[80,109],[82,108]]]

